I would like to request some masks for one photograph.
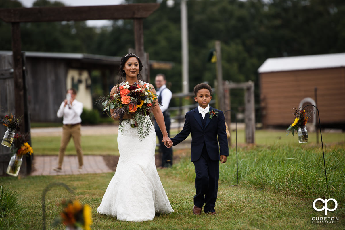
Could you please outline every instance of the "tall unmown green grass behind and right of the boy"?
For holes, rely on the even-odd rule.
[[[338,202],[337,213],[345,215],[345,148],[325,149],[326,186],[321,147],[290,145],[255,146],[238,149],[238,182],[259,190],[284,193],[308,200],[333,198]],[[181,159],[171,169],[180,180],[193,182],[195,169],[189,157]],[[219,167],[220,184],[235,185],[236,149]]]

